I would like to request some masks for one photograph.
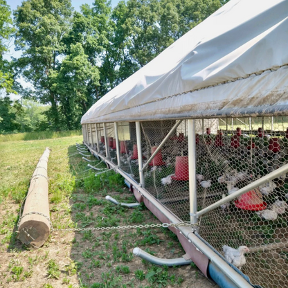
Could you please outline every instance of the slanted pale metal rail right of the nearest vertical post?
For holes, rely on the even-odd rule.
[[[288,172],[288,164],[278,168],[277,170],[274,170],[273,172],[261,177],[260,179],[246,185],[245,187],[237,190],[236,192],[234,192],[233,194],[211,204],[210,206],[200,210],[199,212],[196,213],[197,217],[200,217],[201,215],[204,215],[208,212],[210,212],[211,210],[214,210],[215,208],[220,207],[222,204],[225,204],[229,201],[234,200],[235,198],[243,195],[246,192],[249,192],[250,190],[253,190],[255,188],[258,188],[260,185],[267,183],[269,181],[271,181],[272,179],[277,178],[278,176],[285,174],[286,172]]]

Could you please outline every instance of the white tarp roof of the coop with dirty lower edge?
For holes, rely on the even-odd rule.
[[[102,97],[81,123],[283,114],[288,0],[231,0]]]

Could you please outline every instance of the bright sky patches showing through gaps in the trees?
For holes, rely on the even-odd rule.
[[[21,3],[23,0],[6,0],[6,1],[8,5],[10,6],[11,10],[13,11],[17,8],[17,6],[21,6]],[[89,6],[91,6],[94,1],[95,0],[71,0],[71,3],[72,3],[73,8],[76,11],[80,11],[80,6],[82,4],[89,4]],[[111,0],[112,7],[115,7],[119,1],[120,0]],[[21,55],[21,51],[14,51],[14,45],[11,45],[10,51],[6,53],[6,55],[4,55],[4,58],[10,60],[10,56],[18,58],[20,57],[20,55]],[[19,82],[22,84],[23,87],[30,87],[30,84],[26,83],[23,78],[19,79]],[[12,94],[10,95],[10,98],[12,100],[16,100],[16,99],[21,98],[21,96]]]

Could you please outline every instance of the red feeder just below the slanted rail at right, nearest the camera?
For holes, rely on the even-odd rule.
[[[234,201],[237,208],[242,210],[260,211],[267,208],[267,203],[263,201],[262,194],[251,190],[241,195]]]

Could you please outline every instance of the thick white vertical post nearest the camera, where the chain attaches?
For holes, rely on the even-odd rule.
[[[188,120],[188,157],[189,157],[189,201],[190,221],[197,223],[197,179],[196,179],[196,131],[195,120]]]

